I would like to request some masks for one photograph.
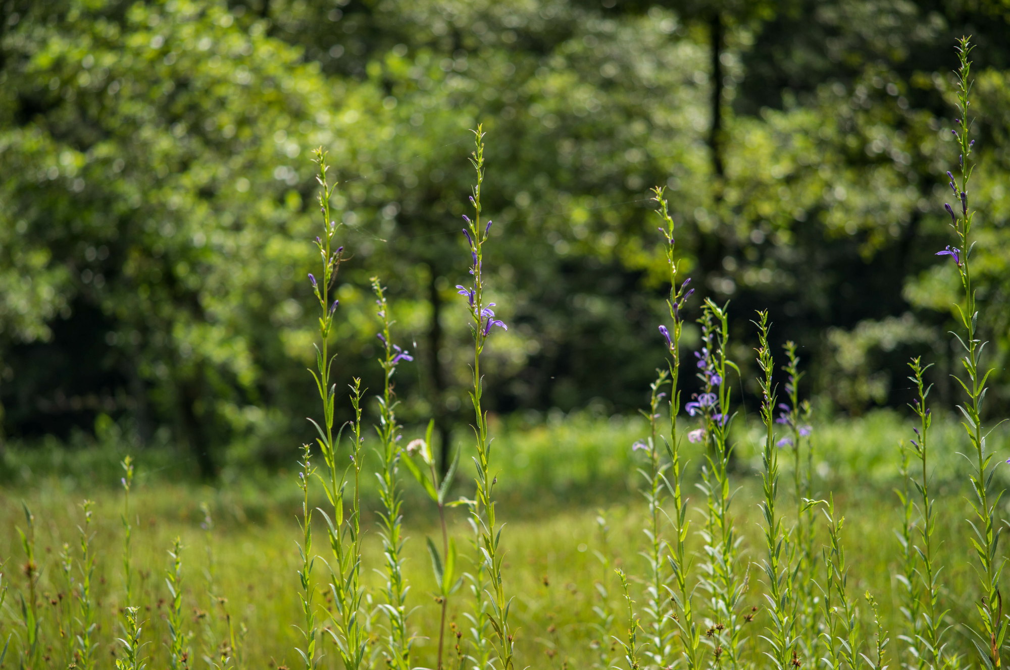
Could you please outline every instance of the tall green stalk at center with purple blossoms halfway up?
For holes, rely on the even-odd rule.
[[[497,637],[498,658],[504,670],[513,668],[513,648],[515,636],[509,622],[511,599],[505,594],[502,580],[503,552],[501,548],[501,528],[498,524],[495,510],[494,487],[498,478],[491,471],[491,439],[488,436],[488,416],[482,406],[484,383],[481,377],[481,353],[495,327],[507,330],[507,326],[495,318],[491,309],[494,303],[487,302],[484,297],[484,244],[491,231],[491,221],[481,222],[481,189],[484,186],[484,131],[477,126],[475,149],[471,154],[471,163],[477,172],[477,184],[473,187],[470,203],[474,207],[474,218],[464,216],[467,227],[464,235],[470,245],[472,264],[470,273],[474,276],[471,288],[458,287],[460,294],[467,298],[467,309],[471,318],[470,330],[474,337],[474,382],[470,399],[474,405],[474,433],[477,436],[477,494],[475,504],[471,506],[474,521],[481,536],[481,554],[488,579],[490,611],[488,621]]]

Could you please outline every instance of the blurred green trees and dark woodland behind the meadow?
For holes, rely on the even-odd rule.
[[[903,405],[910,355],[951,405],[957,286],[934,253],[952,241],[962,34],[979,43],[974,267],[1005,412],[1006,2],[0,0],[3,443],[114,431],[181,445],[205,477],[291,461],[314,407],[322,145],[351,255],[338,374],[379,385],[378,275],[416,354],[401,413],[448,444],[480,122],[510,326],[488,350],[493,412],[644,402],[663,363],[655,185],[697,298],[731,301],[744,378],[768,307],[825,413]]]

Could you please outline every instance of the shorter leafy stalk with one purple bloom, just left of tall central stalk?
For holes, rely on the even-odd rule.
[[[380,332],[379,340],[383,344],[379,364],[383,369],[383,393],[379,397],[379,425],[376,433],[379,435],[379,456],[382,459],[382,469],[376,474],[379,478],[379,497],[382,500],[382,512],[379,513],[382,526],[383,555],[385,557],[385,599],[382,609],[386,613],[389,631],[386,636],[386,664],[398,670],[410,670],[410,648],[412,640],[407,629],[407,583],[403,576],[403,491],[397,475],[397,465],[401,450],[400,425],[396,419],[396,393],[394,392],[393,375],[396,366],[402,361],[413,360],[410,353],[393,343],[390,327],[393,321],[389,316],[389,305],[386,301],[386,290],[378,277],[372,277],[372,291],[376,295]],[[444,620],[444,615],[442,617]],[[444,626],[444,624],[443,624]],[[439,644],[441,636],[439,636]]]

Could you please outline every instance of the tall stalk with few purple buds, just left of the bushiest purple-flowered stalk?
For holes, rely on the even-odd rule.
[[[667,201],[663,197],[663,189],[653,190],[653,200],[660,206],[659,214],[663,219],[660,232],[666,241],[665,255],[667,267],[670,271],[670,298],[667,300],[667,307],[670,309],[671,327],[660,326],[660,334],[667,346],[669,358],[667,363],[670,370],[670,436],[664,436],[664,444],[667,454],[670,456],[669,471],[670,476],[666,478],[671,498],[673,499],[673,544],[669,545],[667,560],[670,563],[673,585],[666,586],[671,599],[675,605],[675,612],[672,619],[677,626],[681,644],[685,668],[696,670],[701,666],[701,631],[695,618],[692,594],[694,587],[688,584],[688,568],[690,558],[687,555],[687,538],[690,522],[687,519],[688,500],[684,495],[684,461],[681,458],[682,436],[677,430],[677,418],[681,411],[681,392],[679,387],[681,373],[681,335],[684,329],[683,308],[688,298],[694,293],[694,289],[689,289],[691,280],[687,278],[677,286],[677,257],[674,243],[674,220],[670,216]],[[714,379],[712,375],[706,375],[710,383]],[[710,392],[709,392],[710,393]],[[696,435],[698,440],[700,435]],[[697,441],[697,440],[696,440]],[[669,581],[669,580],[668,580]]]

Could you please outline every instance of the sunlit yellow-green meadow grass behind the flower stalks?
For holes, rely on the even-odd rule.
[[[851,597],[858,599],[861,617],[867,620],[869,607],[862,599],[866,589],[874,592],[881,602],[885,627],[890,630],[892,653],[898,651],[897,638],[902,633],[897,610],[898,582],[894,573],[898,564],[898,528],[901,510],[892,492],[897,481],[897,443],[907,437],[909,423],[888,413],[871,415],[861,420],[837,421],[816,427],[817,482],[819,496],[833,489],[839,511],[845,516],[844,539],[851,566]],[[594,551],[599,549],[596,527],[597,509],[605,510],[610,528],[610,547],[615,561],[630,575],[644,572],[644,559],[638,551],[645,538],[640,528],[644,507],[634,492],[638,475],[630,446],[642,437],[643,425],[636,419],[608,419],[576,415],[556,418],[544,423],[523,425],[513,421],[494,426],[496,459],[501,463],[499,475],[502,490],[500,514],[507,522],[504,546],[507,548],[504,578],[508,589],[516,593],[514,622],[518,626],[518,664],[537,668],[588,668],[597,659],[591,643],[601,636],[592,629],[596,621],[592,611],[599,601],[595,583],[609,582],[612,606],[618,606],[616,577],[603,570]],[[745,537],[747,561],[759,561],[762,555],[759,478],[752,471],[756,465],[759,428],[741,428],[737,432],[739,445],[733,481],[739,490],[733,502],[737,528]],[[946,587],[945,606],[950,607],[952,621],[974,618],[973,594],[976,591],[974,573],[969,564],[968,533],[965,521],[971,510],[961,484],[961,472],[955,451],[964,444],[958,428],[949,421],[934,425],[933,449],[936,453],[936,481],[939,484],[939,514],[936,540],[938,561],[946,567],[941,581]],[[1006,432],[994,434],[990,440],[998,453],[1006,453]],[[692,445],[693,446],[693,445]],[[143,624],[144,647],[149,655],[149,667],[165,667],[167,662],[165,570],[169,565],[168,550],[176,536],[184,546],[184,611],[187,626],[193,634],[192,647],[199,657],[212,650],[225,638],[226,624],[222,607],[210,595],[227,599],[226,609],[232,618],[236,635],[241,639],[239,667],[266,668],[287,665],[296,667],[293,648],[298,633],[292,628],[300,621],[296,571],[299,565],[296,541],[296,514],[299,490],[295,484],[295,459],[286,473],[254,473],[244,475],[237,469],[226,473],[226,482],[219,488],[194,483],[180,483],[178,466],[173,466],[168,454],[138,453],[137,483],[132,505],[137,523],[133,533],[133,561],[136,566],[136,593]],[[80,502],[94,499],[95,547],[98,566],[95,573],[96,600],[99,604],[97,637],[100,647],[96,658],[99,667],[111,665],[113,653],[120,653],[115,638],[122,637],[118,610],[121,601],[120,576],[121,491],[119,472],[115,465],[121,454],[106,446],[60,452],[55,449],[24,453],[8,450],[4,468],[8,473],[4,505],[0,508],[0,561],[3,561],[5,581],[11,594],[0,615],[2,635],[14,635],[6,667],[17,667],[19,629],[17,591],[25,583],[23,557],[15,526],[24,527],[17,501],[23,499],[35,515],[37,555],[41,568],[39,606],[49,611],[45,616],[42,635],[49,661],[42,667],[61,667],[62,645],[60,628],[65,633],[74,629],[61,609],[60,594],[66,595],[61,583],[59,553],[63,543],[76,549],[77,526],[81,523]],[[465,459],[466,460],[466,459]],[[700,462],[698,454],[691,456],[691,472]],[[783,510],[791,511],[792,497],[788,466],[783,459]],[[998,479],[1006,484],[1008,466],[999,468]],[[692,477],[693,478],[693,477]],[[472,480],[458,479],[457,492],[470,494]],[[691,487],[695,523],[700,520],[700,494]],[[373,500],[372,496],[367,496]],[[201,529],[201,502],[210,507],[215,528],[209,536],[215,569],[213,593],[207,588],[208,535]],[[319,500],[321,504],[321,500]],[[1006,502],[1004,502],[1006,505]],[[406,553],[406,576],[411,584],[409,600],[416,605],[411,621],[420,634],[436,634],[438,608],[431,592],[428,557],[424,536],[436,534],[434,510],[413,487],[408,486],[405,527],[410,537]],[[1004,518],[1007,511],[1003,510]],[[469,526],[462,509],[454,511],[452,533],[461,547],[469,547]],[[788,521],[789,518],[787,518]],[[317,518],[317,521],[321,521]],[[369,531],[365,542],[363,578],[373,593],[378,592],[380,575],[372,567],[380,565],[380,543],[374,517],[367,518]],[[823,525],[820,531],[823,532]],[[322,538],[322,529],[318,529]],[[698,539],[692,535],[697,546]],[[319,546],[321,551],[321,545]],[[465,550],[465,555],[472,550]],[[324,578],[323,566],[317,563],[316,578]],[[465,565],[470,569],[471,565]],[[763,606],[760,573],[750,567],[750,585],[746,606]],[[634,584],[634,597],[641,600],[641,585]],[[450,611],[461,626],[466,624],[461,608],[469,602],[461,590],[454,596]],[[56,599],[58,604],[49,604]],[[325,602],[323,597],[317,601]],[[759,610],[748,631],[753,640],[764,633],[764,612]],[[381,624],[377,618],[376,625]],[[242,631],[247,633],[242,635]],[[623,631],[615,630],[615,635]],[[866,629],[863,638],[870,642],[872,632]],[[605,641],[610,644],[609,640]],[[951,644],[969,651],[965,633],[955,628]],[[0,643],[2,648],[2,643]],[[336,667],[337,656],[332,643],[322,646],[324,667]],[[418,639],[416,662],[433,665],[433,641]],[[761,659],[752,660],[761,667]],[[615,659],[616,662],[616,659]],[[892,667],[897,667],[893,658]],[[377,663],[374,667],[378,667]],[[806,664],[805,664],[806,665]],[[207,667],[201,660],[191,667]],[[809,667],[809,666],[808,666]]]

